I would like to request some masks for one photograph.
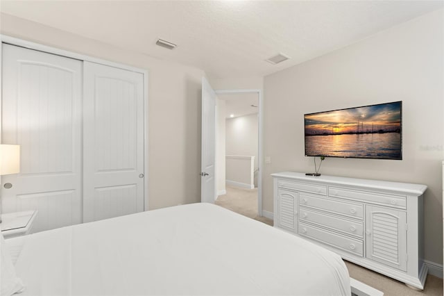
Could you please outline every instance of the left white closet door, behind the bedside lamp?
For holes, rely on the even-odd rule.
[[[37,209],[33,232],[80,223],[82,62],[2,47],[1,142],[21,145],[20,173],[1,177],[3,213]]]

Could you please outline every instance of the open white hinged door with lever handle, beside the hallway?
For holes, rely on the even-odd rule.
[[[202,153],[200,201],[214,203],[216,199],[216,93],[202,78]]]

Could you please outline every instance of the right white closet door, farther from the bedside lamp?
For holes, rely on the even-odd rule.
[[[143,74],[83,67],[83,222],[144,211]]]

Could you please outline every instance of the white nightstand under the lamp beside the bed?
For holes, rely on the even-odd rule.
[[[31,233],[37,211],[24,211],[1,215],[0,229],[3,238],[15,238]]]

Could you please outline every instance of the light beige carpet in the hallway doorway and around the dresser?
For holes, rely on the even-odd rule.
[[[273,220],[257,214],[257,188],[250,190],[227,186],[226,190],[227,194],[219,196],[215,204],[273,226]],[[384,292],[385,296],[443,296],[443,279],[432,275],[427,276],[424,290],[416,291],[400,281],[385,277],[359,265],[348,261],[345,261],[345,265],[347,265],[350,277]]]

